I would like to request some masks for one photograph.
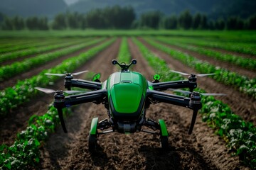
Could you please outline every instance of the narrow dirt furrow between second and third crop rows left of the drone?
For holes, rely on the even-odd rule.
[[[102,42],[100,42],[100,43],[102,43]],[[15,77],[11,77],[11,79],[1,81],[0,90],[3,90],[3,89],[5,89],[6,87],[9,87],[9,86],[14,86],[15,84],[17,84],[18,80],[23,80],[23,79],[28,79],[30,77],[33,77],[36,74],[39,74],[40,72],[42,72],[44,69],[50,69],[52,67],[55,67],[56,65],[60,64],[64,60],[68,59],[69,57],[75,57],[75,56],[79,55],[80,53],[86,52],[88,49],[90,49],[92,47],[95,47],[96,45],[99,45],[99,43],[97,43],[95,45],[90,45],[90,46],[85,47],[81,50],[73,52],[69,55],[64,55],[64,56],[58,57],[54,60],[46,62],[45,64],[43,64],[41,66],[30,69],[28,72],[24,72],[23,74],[17,74]]]

